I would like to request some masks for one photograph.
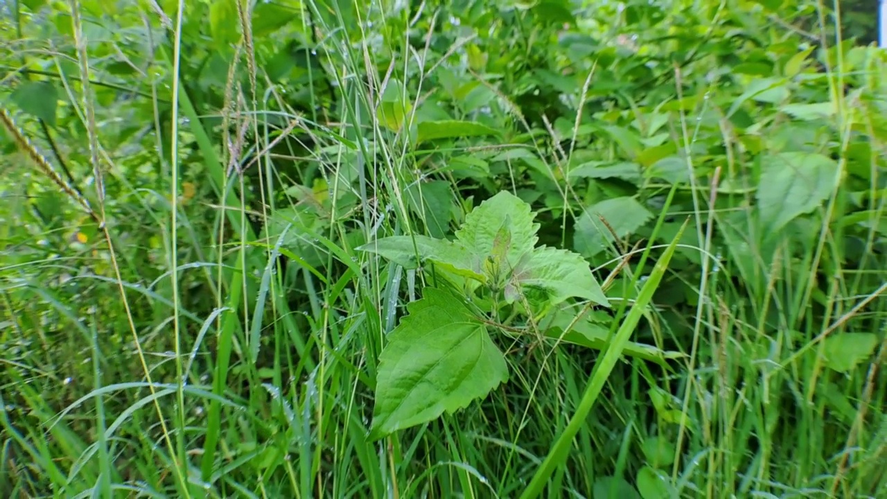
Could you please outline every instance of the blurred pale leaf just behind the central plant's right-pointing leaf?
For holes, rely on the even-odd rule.
[[[610,228],[601,222],[600,217],[623,238],[653,217],[640,202],[633,197],[624,196],[599,202],[590,206],[576,224],[575,249],[585,257],[593,257],[607,248],[607,242],[613,241]]]

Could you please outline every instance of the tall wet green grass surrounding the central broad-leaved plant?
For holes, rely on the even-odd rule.
[[[386,334],[430,278],[355,248],[386,235],[428,233],[428,213],[414,210],[411,197],[428,195],[428,179],[448,186],[456,213],[451,226],[482,201],[480,193],[518,190],[515,176],[526,169],[516,160],[475,180],[457,179],[444,167],[459,156],[488,158],[478,151],[507,149],[529,131],[514,99],[498,95],[506,102],[492,112],[514,123],[501,143],[417,152],[407,134],[386,128],[398,116],[372,109],[391,81],[386,71],[430,78],[443,70],[423,59],[431,53],[427,40],[415,48],[405,34],[386,34],[400,27],[396,21],[409,21],[405,13],[393,20],[361,13],[373,27],[355,35],[342,29],[353,19],[339,4],[303,8],[326,46],[344,47],[332,76],[343,103],[338,123],[318,125],[324,120],[317,110],[326,106],[315,101],[319,91],[306,92],[310,115],[289,107],[279,88],[253,90],[266,77],[256,52],[283,41],[254,42],[250,29],[239,59],[225,68],[224,89],[216,89],[221,106],[197,102],[189,94],[194,87],[184,84],[193,70],[185,59],[192,44],[203,42],[189,39],[182,20],[170,16],[171,42],[156,53],[169,78],[151,80],[154,97],[137,116],[153,128],[169,104],[173,124],[169,137],[152,133],[139,144],[151,148],[130,155],[121,152],[130,139],[102,122],[109,106],[90,83],[100,79],[102,62],[82,38],[86,21],[67,20],[77,49],[67,58],[78,64],[72,70],[62,64],[66,57],[48,57],[67,81],[68,106],[76,107],[67,119],[80,123],[83,142],[70,132],[57,135],[71,142],[66,147],[81,178],[92,174],[85,165],[101,165],[107,196],[85,195],[106,224],[91,221],[48,178],[36,177],[27,155],[0,158],[10,171],[0,180],[0,495],[627,496],[621,482],[608,479],[618,477],[653,494],[645,497],[887,497],[887,301],[878,253],[884,236],[877,229],[884,196],[883,167],[876,166],[871,185],[862,188],[871,199],[867,210],[851,206],[860,189],[836,178],[808,218],[814,241],[767,246],[750,209],[753,175],[733,174],[757,166],[722,154],[725,166],[713,175],[690,175],[661,193],[663,208],[650,230],[632,239],[637,247],[610,244],[608,263],[597,269],[617,297],[606,325],[615,336],[605,352],[541,338],[500,341],[509,383],[454,415],[368,441]],[[244,12],[231,14],[237,26],[249,24]],[[91,27],[91,13],[87,20]],[[501,29],[503,39],[531,38],[518,36],[528,29],[519,23]],[[381,60],[369,46],[374,36],[389,36],[396,41],[389,50],[410,57],[373,66]],[[489,54],[506,44],[489,43]],[[842,64],[839,58],[825,74],[834,104],[848,110],[854,104],[837,90]],[[868,64],[872,75],[883,75],[883,60]],[[503,76],[509,79],[518,78]],[[874,77],[869,84],[873,94],[883,91]],[[671,98],[687,97],[682,88],[668,89]],[[585,90],[579,107],[592,99]],[[419,98],[406,97],[413,106],[402,117],[411,123],[419,119]],[[671,111],[671,140],[687,152],[691,171],[706,160],[694,152],[702,116],[726,112],[713,98],[700,102]],[[25,134],[40,137],[33,118],[9,109]],[[828,131],[841,165],[859,154],[851,150],[854,133],[871,142],[872,164],[879,161],[880,118],[865,109],[853,120],[836,116]],[[284,120],[272,125],[268,115]],[[579,125],[569,130],[573,137],[582,133]],[[782,126],[762,118],[758,134],[777,135]],[[564,180],[574,151],[546,147],[553,128],[535,130],[545,133],[523,144],[546,171],[527,175],[550,181],[556,188],[546,192],[560,197],[540,197],[534,210],[553,225],[563,219],[572,226],[587,195]],[[296,151],[282,137],[310,139],[313,146]],[[725,129],[717,140],[731,144],[735,137]],[[614,139],[598,152],[612,159],[617,145]],[[283,147],[293,150],[283,154]],[[238,160],[232,154],[255,160],[248,175],[232,168]],[[299,178],[303,171],[279,168],[284,156],[310,174]],[[159,174],[139,172],[139,163]],[[748,185],[711,187],[728,177]],[[289,187],[315,179],[328,191],[319,189],[314,201],[328,194],[356,202],[332,203],[317,223],[304,226],[289,210],[302,210],[311,198]],[[182,197],[184,182],[196,183],[194,197]],[[688,191],[683,202],[675,201],[679,190]],[[478,197],[468,200],[466,192]],[[57,200],[58,219],[36,214],[32,206],[48,205],[26,205],[21,195]],[[870,229],[860,238],[861,263],[850,268],[836,257],[847,251],[846,227],[836,221],[852,216]],[[273,224],[286,231],[257,228]],[[546,228],[568,245],[566,229]],[[70,242],[78,232],[86,242]],[[662,274],[650,274],[657,262]],[[687,299],[671,300],[675,293]],[[847,331],[875,333],[879,343],[842,373],[828,368],[824,340]],[[686,356],[667,367],[620,356],[628,339]]]

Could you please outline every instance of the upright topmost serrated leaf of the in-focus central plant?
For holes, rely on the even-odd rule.
[[[502,191],[481,203],[465,217],[456,237],[459,242],[481,257],[490,256],[499,228],[510,218],[511,241],[506,251],[508,265],[517,266],[521,257],[536,246],[536,231],[530,205],[514,194]]]

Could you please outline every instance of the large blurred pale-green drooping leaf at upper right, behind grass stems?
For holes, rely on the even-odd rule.
[[[757,210],[767,231],[775,232],[814,210],[836,182],[837,163],[822,154],[781,153],[761,159]]]

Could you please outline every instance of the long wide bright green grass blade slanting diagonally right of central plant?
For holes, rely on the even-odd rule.
[[[644,287],[640,289],[640,294],[638,295],[638,299],[634,306],[632,306],[632,310],[625,316],[625,320],[622,325],[619,326],[619,330],[616,331],[616,336],[613,337],[613,341],[610,342],[606,352],[604,352],[600,357],[600,360],[595,364],[592,370],[592,375],[590,376],[591,379],[588,382],[588,386],[585,388],[582,400],[579,401],[579,407],[577,408],[576,413],[570,418],[567,428],[561,433],[558,440],[554,442],[554,447],[549,451],[546,460],[542,462],[541,466],[539,466],[536,474],[533,475],[533,479],[530,480],[530,485],[528,485],[526,490],[523,491],[521,499],[532,499],[541,495],[542,489],[545,487],[546,482],[549,477],[551,477],[554,469],[561,465],[566,459],[567,451],[573,438],[576,437],[579,427],[585,423],[585,418],[592,410],[594,402],[598,399],[600,390],[603,389],[604,384],[607,382],[610,372],[616,367],[616,361],[619,360],[625,345],[628,344],[628,340],[632,336],[632,331],[634,331],[635,326],[638,325],[638,321],[640,321],[644,309],[653,299],[653,293],[659,286],[659,282],[662,281],[665,269],[668,268],[669,261],[671,261],[671,257],[674,255],[674,251],[678,246],[681,236],[684,234],[684,229],[686,228],[687,222],[684,222],[684,225],[680,227],[674,240],[669,244],[668,249],[665,249],[663,256],[656,262],[653,272],[650,273],[647,282],[644,283]]]

